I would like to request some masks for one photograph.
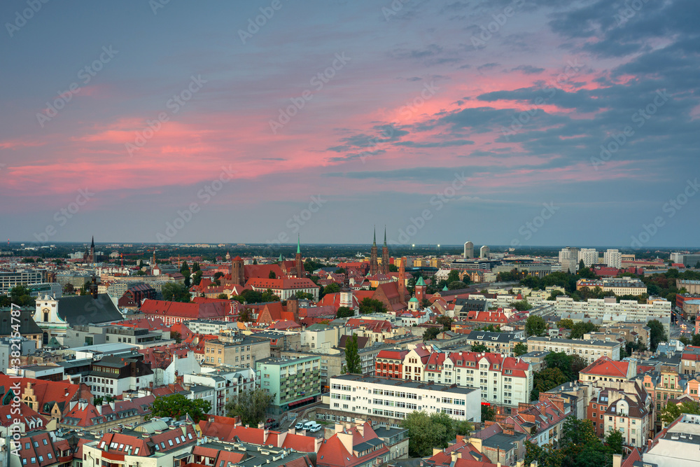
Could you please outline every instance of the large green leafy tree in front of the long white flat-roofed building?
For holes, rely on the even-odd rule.
[[[411,457],[430,456],[433,447],[447,447],[455,435],[454,421],[443,412],[410,412],[401,421],[401,426],[408,430],[408,453]]]

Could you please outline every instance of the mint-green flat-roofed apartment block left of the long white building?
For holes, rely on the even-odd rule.
[[[260,387],[274,394],[272,410],[281,414],[321,395],[321,357],[265,358],[255,363]]]

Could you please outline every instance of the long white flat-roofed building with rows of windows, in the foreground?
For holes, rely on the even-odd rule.
[[[414,410],[444,412],[460,421],[481,421],[481,398],[476,389],[374,376],[330,378],[330,408],[360,417],[387,417],[397,423]]]

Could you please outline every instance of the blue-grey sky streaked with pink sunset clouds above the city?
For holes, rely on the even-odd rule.
[[[0,4],[0,237],[698,246],[696,0]]]

